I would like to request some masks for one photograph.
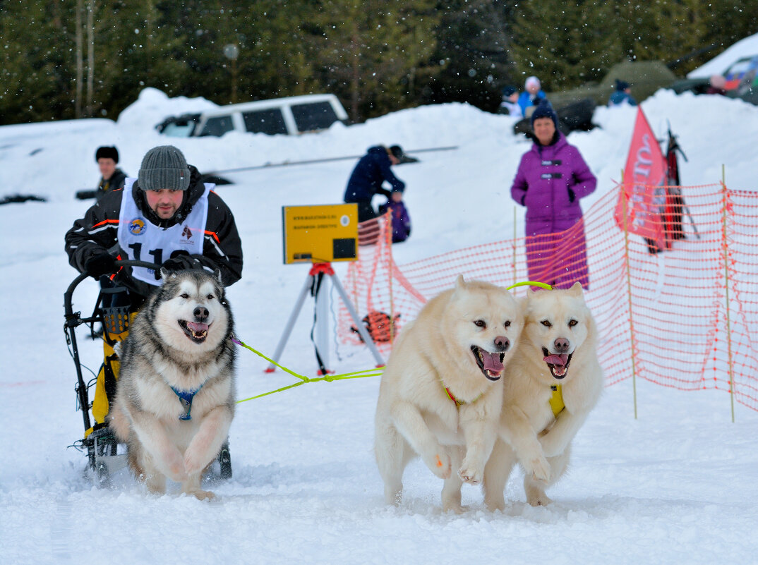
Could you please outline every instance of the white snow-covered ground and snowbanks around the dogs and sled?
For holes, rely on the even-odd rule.
[[[400,111],[358,126],[300,137],[242,136],[169,140],[151,130],[167,114],[209,105],[168,100],[147,89],[117,123],[0,127],[0,197],[42,195],[48,202],[0,207],[0,563],[755,563],[758,414],[737,405],[731,423],[724,392],[678,392],[631,379],[607,388],[575,441],[572,467],[549,495],[550,507],[525,504],[521,477],[507,487],[504,513],[488,513],[481,492],[464,487],[470,510],[442,513],[441,482],[420,463],[406,470],[406,498],[384,506],[371,443],[377,377],[315,383],[239,405],[231,434],[233,479],[218,498],[146,495],[125,474],[114,489],[83,477],[85,457],[67,448],[83,429],[75,408],[74,365],[64,342],[62,296],[75,271],[63,235],[88,202],[74,192],[98,177],[96,147],[115,144],[136,173],[145,151],[173,141],[200,170],[361,155],[399,143],[418,164],[396,167],[408,183],[412,238],[396,246],[398,264],[505,239],[513,233],[509,186],[528,142],[509,117],[467,105]],[[684,184],[722,179],[758,189],[758,108],[720,97],[659,92],[644,103],[661,138],[667,120],[688,155]],[[577,145],[599,179],[586,210],[624,166],[634,111],[599,108]],[[341,200],[354,159],[231,173],[218,192],[243,238],[243,280],[230,288],[237,334],[271,354],[307,267],[281,261],[280,207]],[[522,210],[518,210],[521,223]],[[520,234],[519,234],[520,235]],[[86,282],[74,297],[88,314],[96,296]],[[310,306],[281,362],[313,375]],[[96,370],[97,346],[81,339]],[[238,395],[293,382],[263,373],[265,361],[240,350]],[[368,351],[332,351],[338,373],[373,366]],[[753,493],[752,495],[750,493]]]

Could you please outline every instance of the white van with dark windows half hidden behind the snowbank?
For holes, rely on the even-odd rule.
[[[294,136],[325,130],[337,121],[348,123],[345,108],[337,96],[309,94],[222,106],[202,114],[172,116],[155,129],[172,137],[220,137],[230,131]]]

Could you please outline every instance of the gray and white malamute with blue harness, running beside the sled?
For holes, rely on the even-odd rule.
[[[110,426],[150,492],[164,493],[168,477],[212,498],[200,481],[234,415],[232,314],[218,271],[161,276],[121,346]]]

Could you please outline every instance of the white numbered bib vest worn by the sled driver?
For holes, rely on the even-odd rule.
[[[182,223],[163,229],[146,220],[137,208],[132,196],[135,180],[127,179],[124,183],[121,212],[118,214],[118,245],[127,257],[133,261],[160,265],[179,254],[201,255],[208,219],[208,192],[214,185],[205,184],[205,192]],[[161,284],[161,279],[155,279],[155,270],[146,267],[132,267],[132,276],[154,286]]]

